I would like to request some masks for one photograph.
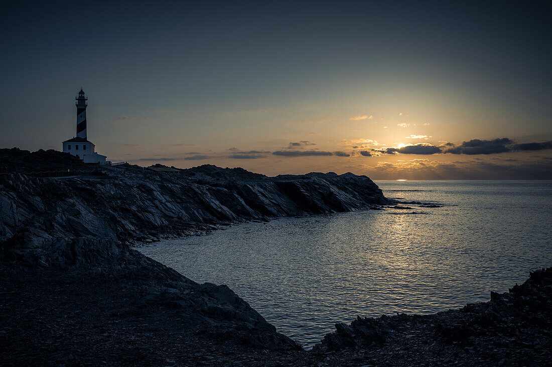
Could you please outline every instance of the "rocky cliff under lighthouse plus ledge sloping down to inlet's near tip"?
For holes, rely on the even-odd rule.
[[[216,325],[217,333],[263,348],[296,346],[227,287],[194,283],[130,246],[230,222],[390,203],[368,177],[353,174],[266,177],[210,165],[91,168],[53,150],[2,149],[0,162],[4,269],[26,265],[79,274],[86,269],[120,283],[142,279],[136,287],[146,288],[136,307],[182,309],[204,326]],[[35,177],[44,171],[56,171],[57,177]]]

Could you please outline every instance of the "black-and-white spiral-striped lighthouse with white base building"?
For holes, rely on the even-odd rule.
[[[86,107],[88,106],[88,98],[84,96],[82,88],[75,97],[75,100],[75,105],[77,106],[77,136],[62,143],[63,153],[76,155],[84,163],[109,164],[110,162],[105,160],[107,157],[96,153],[96,146],[88,141],[86,134]]]

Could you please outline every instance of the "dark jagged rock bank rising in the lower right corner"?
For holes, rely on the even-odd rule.
[[[391,355],[402,350],[402,357]],[[508,293],[491,292],[491,300],[434,315],[358,317],[336,324],[313,349],[377,355],[386,351],[392,365],[547,365],[552,359],[552,268],[530,274]],[[406,357],[405,352],[408,353]],[[385,353],[384,353],[385,354]],[[399,357],[399,358],[397,358]],[[385,362],[385,363],[384,363]]]

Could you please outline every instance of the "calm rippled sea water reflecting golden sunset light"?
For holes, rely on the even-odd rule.
[[[311,347],[336,322],[489,300],[552,266],[552,181],[376,181],[386,197],[443,204],[247,223],[140,251],[226,284]]]

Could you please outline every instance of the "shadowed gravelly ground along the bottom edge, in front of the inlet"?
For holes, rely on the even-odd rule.
[[[217,304],[216,286],[190,290],[172,277],[153,264],[110,272],[3,266],[0,365],[548,366],[552,358],[552,268],[486,303],[338,324],[312,350],[275,339],[254,311],[236,319],[228,289]],[[188,306],[201,296],[205,305]]]

